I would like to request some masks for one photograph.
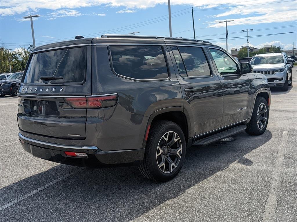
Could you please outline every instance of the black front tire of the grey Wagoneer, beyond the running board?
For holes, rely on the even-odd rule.
[[[264,104],[264,106],[266,107],[266,115],[261,115],[261,117],[264,117],[264,119],[259,120],[260,124],[258,126],[258,109],[260,108],[260,106],[263,106],[262,104]],[[265,111],[265,107],[264,107],[264,111]],[[265,120],[266,118],[266,120]],[[252,118],[249,121],[249,123],[247,124],[247,128],[246,128],[246,132],[249,135],[261,135],[265,132],[267,125],[268,125],[268,119],[269,119],[269,109],[268,109],[268,104],[266,99],[264,99],[262,96],[257,96],[256,101],[255,101],[255,105],[253,108],[253,113],[252,113]],[[265,125],[262,128],[263,122],[265,122]],[[262,124],[262,125],[261,125]]]

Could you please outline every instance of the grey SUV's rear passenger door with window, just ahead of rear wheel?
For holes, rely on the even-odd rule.
[[[171,46],[173,62],[195,135],[220,128],[223,116],[221,82],[210,69],[204,47]]]

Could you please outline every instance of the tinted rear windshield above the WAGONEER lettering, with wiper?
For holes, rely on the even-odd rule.
[[[24,83],[81,83],[86,73],[86,47],[33,54]],[[42,80],[40,77],[59,77]]]

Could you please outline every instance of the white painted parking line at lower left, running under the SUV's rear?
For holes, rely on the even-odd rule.
[[[70,172],[70,173],[67,173],[67,174],[65,174],[64,176],[61,176],[61,177],[59,177],[58,179],[53,180],[53,181],[51,181],[51,182],[45,184],[44,186],[41,186],[41,187],[37,188],[36,190],[32,190],[31,192],[29,192],[29,193],[27,193],[27,194],[25,194],[25,195],[23,195],[23,196],[21,196],[21,197],[18,197],[17,199],[15,199],[15,200],[13,200],[13,201],[11,201],[11,202],[9,202],[9,203],[7,203],[7,204],[1,206],[1,207],[0,207],[0,211],[6,209],[7,207],[10,207],[10,206],[12,206],[12,205],[18,203],[18,202],[20,202],[20,201],[22,201],[22,200],[25,200],[25,199],[28,198],[28,197],[31,197],[32,195],[34,195],[34,194],[36,194],[36,193],[38,193],[38,192],[40,192],[40,191],[42,191],[42,190],[44,190],[44,189],[46,189],[46,188],[48,188],[48,187],[50,187],[50,186],[52,186],[52,185],[58,183],[58,182],[61,181],[61,180],[66,179],[66,178],[69,177],[69,176],[72,176],[72,175],[75,174],[75,173],[78,173],[80,170],[83,170],[83,168],[78,168],[77,170],[74,170],[74,171],[72,171],[72,172]]]

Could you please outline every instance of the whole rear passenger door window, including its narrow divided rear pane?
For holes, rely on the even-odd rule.
[[[200,47],[178,46],[178,50],[177,47],[172,47],[172,49],[181,76],[194,77],[211,75],[205,54]]]

